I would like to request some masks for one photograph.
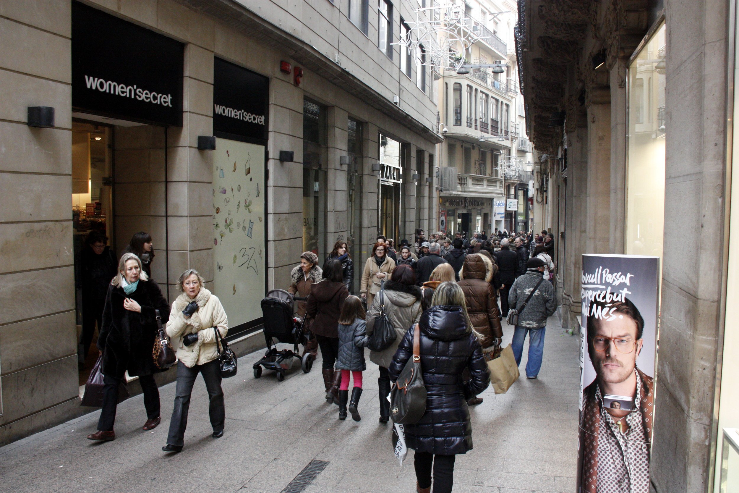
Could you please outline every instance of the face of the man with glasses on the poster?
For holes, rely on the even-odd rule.
[[[636,322],[630,316],[619,315],[621,313],[611,321],[596,320],[595,333],[588,342],[596,374],[600,381],[608,384],[620,384],[629,378],[644,343],[636,339]]]

